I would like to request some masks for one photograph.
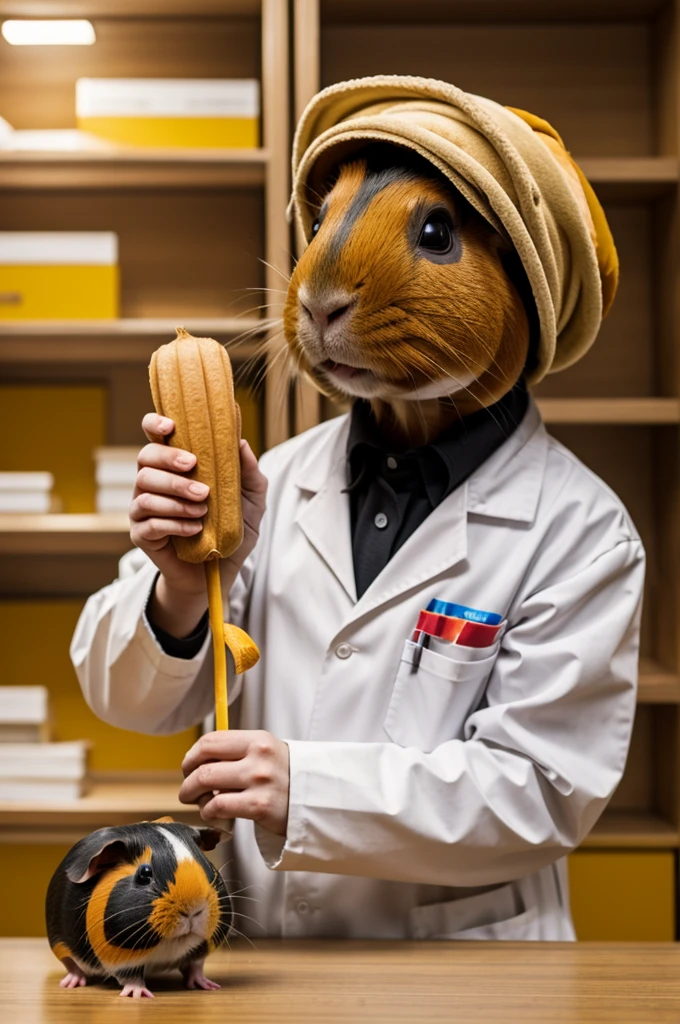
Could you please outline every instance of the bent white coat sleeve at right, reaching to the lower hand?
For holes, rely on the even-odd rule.
[[[290,741],[285,841],[270,867],[477,886],[538,870],[592,828],[624,770],[635,712],[644,553],[622,540],[527,594],[464,738]]]

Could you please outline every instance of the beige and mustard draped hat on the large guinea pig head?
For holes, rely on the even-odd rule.
[[[595,194],[548,122],[434,79],[332,85],[308,104],[293,143],[289,216],[307,240],[329,175],[369,140],[420,154],[510,239],[541,325],[532,383],[576,362],[613,301],[619,261]]]

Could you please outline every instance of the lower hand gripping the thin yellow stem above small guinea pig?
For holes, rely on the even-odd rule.
[[[250,818],[278,836],[288,825],[288,744],[264,730],[208,732],[182,762],[182,804],[206,821]]]

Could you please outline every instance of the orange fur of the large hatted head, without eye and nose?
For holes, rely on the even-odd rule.
[[[334,239],[366,174],[364,161],[340,170],[317,236],[291,279],[286,339],[300,369],[333,398],[346,400],[352,392],[329,380],[325,360],[372,371],[380,381],[370,395],[376,414],[423,442],[512,387],[526,359],[528,319],[504,270],[500,237],[434,177],[396,180],[379,191],[334,257]],[[458,262],[437,264],[414,253],[408,226],[419,204],[450,212],[462,242]],[[333,344],[320,341],[306,322],[300,289],[351,306]],[[473,381],[455,399],[400,397],[469,375]]]

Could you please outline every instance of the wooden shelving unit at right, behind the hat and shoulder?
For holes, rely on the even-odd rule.
[[[547,118],[605,205],[622,265],[617,302],[587,356],[536,397],[551,432],[621,495],[648,555],[629,764],[584,844],[611,856],[680,851],[679,7],[394,0],[387,13],[379,0],[294,0],[298,116],[317,89],[346,79],[454,82]],[[297,429],[329,412],[303,388]]]

